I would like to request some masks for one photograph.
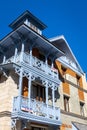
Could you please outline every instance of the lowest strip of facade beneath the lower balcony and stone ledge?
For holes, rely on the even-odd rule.
[[[61,113],[61,126],[43,124],[25,119],[11,120],[9,113],[0,114],[0,130],[87,130],[87,119]]]

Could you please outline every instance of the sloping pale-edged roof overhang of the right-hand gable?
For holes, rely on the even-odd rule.
[[[50,41],[51,41],[52,45],[54,45],[59,50],[63,51],[65,53],[65,56],[67,58],[69,58],[69,60],[71,60],[72,63],[75,63],[77,68],[74,68],[74,71],[76,71],[78,74],[80,74],[80,73],[84,74],[82,68],[80,67],[75,55],[73,54],[69,44],[67,43],[67,41],[63,35],[51,38]]]

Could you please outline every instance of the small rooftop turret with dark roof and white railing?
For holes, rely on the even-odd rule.
[[[18,17],[9,26],[14,30],[24,23],[30,28],[32,28],[34,31],[39,33],[40,35],[42,34],[42,30],[44,30],[47,27],[37,17],[32,15],[29,11],[25,11],[20,17]]]

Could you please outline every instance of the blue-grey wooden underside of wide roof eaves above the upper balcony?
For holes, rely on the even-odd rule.
[[[64,53],[58,48],[56,48],[54,45],[52,45],[50,41],[48,41],[46,38],[39,35],[38,33],[34,32],[25,24],[21,25],[15,31],[12,31],[10,34],[8,34],[5,38],[3,38],[0,41],[0,44],[4,48],[9,49],[11,45],[19,44],[22,43],[23,41],[24,42],[30,41],[29,46],[39,48],[39,50],[44,55],[48,55],[53,59],[56,59],[64,55]]]

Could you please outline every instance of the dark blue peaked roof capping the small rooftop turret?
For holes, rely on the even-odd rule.
[[[44,30],[47,26],[40,21],[37,17],[35,17],[31,12],[26,10],[23,14],[21,14],[16,20],[14,20],[9,26],[12,29],[17,28],[20,26],[26,19],[29,19],[33,22],[39,29]]]

